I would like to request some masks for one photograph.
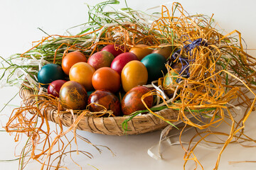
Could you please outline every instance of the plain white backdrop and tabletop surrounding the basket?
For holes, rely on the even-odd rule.
[[[9,57],[16,52],[25,52],[33,41],[41,40],[44,33],[37,28],[42,28],[48,34],[63,35],[65,30],[87,21],[87,4],[93,5],[99,0],[1,0],[0,1],[0,56]],[[144,11],[146,8],[164,4],[170,1],[149,1],[149,0],[127,0],[130,8]],[[173,2],[173,1],[171,1]],[[215,13],[215,21],[227,33],[232,30],[239,30],[242,38],[246,41],[248,49],[256,49],[256,2],[248,1],[203,1],[203,0],[183,0],[179,1],[188,13],[203,13],[211,16]],[[171,4],[169,4],[171,6]],[[116,8],[125,7],[124,1]],[[251,55],[256,56],[255,50],[250,50]],[[16,93],[18,88],[9,87],[0,89],[0,106],[4,106]],[[11,105],[18,106],[20,98],[15,98]],[[8,106],[0,113],[1,126],[4,126],[8,116],[15,106]],[[255,112],[250,116],[245,131],[247,134],[256,138],[255,135]],[[3,130],[3,128],[1,128]],[[193,130],[189,131],[193,134]],[[91,134],[90,132],[80,132],[80,135],[87,137],[96,145],[106,145],[116,154],[112,154],[102,148],[102,154],[99,154],[89,145],[79,142],[80,147],[94,155],[94,158],[88,159],[82,155],[75,156],[78,164],[83,169],[183,169],[183,149],[179,145],[166,147],[163,152],[164,159],[156,160],[149,157],[147,149],[156,145],[159,140],[160,132],[151,132],[144,135],[134,136],[106,136]],[[189,137],[184,137],[188,141]],[[173,137],[172,141],[177,141]],[[0,160],[15,159],[14,151],[17,154],[22,144],[16,147],[14,136],[6,132],[0,132]],[[186,146],[186,145],[185,145]],[[240,145],[229,145],[220,159],[219,169],[255,169],[256,163],[228,164],[230,161],[256,161],[256,149],[245,148]],[[205,169],[213,169],[217,159],[218,149],[206,149],[198,147],[196,152],[198,159],[201,160]],[[70,169],[79,169],[78,166],[70,163],[68,157],[65,164]],[[26,169],[40,169],[40,164],[31,162]],[[193,169],[193,164],[186,168]],[[16,162],[0,162],[0,169],[18,169]],[[200,169],[200,168],[198,168]]]

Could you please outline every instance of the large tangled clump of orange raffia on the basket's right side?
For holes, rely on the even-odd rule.
[[[176,4],[174,4],[175,6]],[[172,10],[174,10],[174,6]],[[179,8],[180,7],[180,8]],[[142,96],[142,102],[144,103],[144,98],[151,95],[159,96],[164,104],[168,106],[169,108],[174,109],[180,109],[179,115],[177,120],[182,120],[186,125],[192,125],[195,128],[198,129],[206,129],[210,126],[215,125],[218,123],[218,126],[220,123],[228,123],[225,121],[224,118],[229,118],[232,122],[230,125],[230,134],[228,135],[228,138],[226,139],[223,148],[221,149],[217,162],[215,164],[215,169],[218,169],[218,164],[220,161],[220,156],[223,153],[225,147],[230,142],[234,142],[233,137],[236,133],[241,132],[243,128],[245,128],[245,121],[249,117],[250,113],[252,113],[254,107],[255,107],[255,100],[256,96],[255,93],[252,91],[252,89],[255,89],[255,86],[252,86],[249,81],[247,81],[248,78],[252,78],[256,72],[255,69],[252,68],[252,66],[255,66],[255,58],[251,57],[250,55],[247,55],[242,48],[242,40],[241,35],[237,30],[234,30],[233,32],[229,33],[228,35],[220,35],[214,28],[211,28],[210,21],[206,22],[201,18],[196,18],[196,20],[193,20],[193,17],[186,17],[183,14],[182,6],[178,7],[178,11],[181,12],[180,17],[174,17],[171,16],[168,9],[163,6],[162,8],[162,16],[159,18],[159,20],[155,21],[152,24],[151,30],[157,30],[159,33],[164,35],[166,33],[166,30],[169,28],[172,29],[175,35],[180,38],[180,40],[174,40],[175,45],[181,45],[184,43],[186,44],[186,40],[196,40],[198,38],[203,38],[208,42],[208,47],[198,47],[193,50],[192,55],[189,53],[186,54],[185,51],[181,48],[181,54],[188,57],[189,60],[196,60],[196,62],[193,62],[193,64],[190,64],[190,78],[185,79],[183,77],[178,76],[171,76],[171,77],[177,77],[181,78],[183,81],[183,84],[179,84],[180,93],[181,95],[178,95],[181,98],[181,103],[173,103],[172,106],[169,106],[168,103],[164,100],[164,97],[160,94],[157,94],[155,91],[151,91],[148,94],[145,94]],[[213,16],[212,16],[213,17]],[[211,18],[212,18],[211,17]],[[169,19],[169,20],[168,20]],[[200,24],[203,24],[206,28],[202,28]],[[178,27],[177,27],[178,26]],[[196,29],[197,31],[193,31],[193,29]],[[230,35],[233,35],[234,33],[238,33],[239,36],[239,43],[240,47],[230,46],[228,45],[228,42],[224,42],[223,40],[231,40]],[[186,35],[186,36],[184,36]],[[171,37],[169,35],[166,36],[167,40],[170,42]],[[189,43],[189,42],[188,42]],[[217,69],[217,62],[219,60],[222,60],[220,57],[222,57],[223,50],[230,50],[231,53],[233,53],[235,56],[238,56],[240,54],[241,61],[245,63],[246,67],[251,67],[252,73],[250,73],[249,76],[245,75],[242,77],[237,77],[234,74],[231,74],[228,72],[230,70],[228,63],[224,61],[223,64],[225,64],[226,69]],[[229,55],[227,53],[227,55]],[[230,56],[232,60],[232,56]],[[250,61],[250,63],[248,62]],[[223,62],[223,61],[221,61]],[[220,69],[220,70],[219,70]],[[240,72],[241,68],[235,68],[237,69],[237,72]],[[242,71],[242,70],[241,70]],[[242,71],[243,72],[243,71]],[[208,73],[208,77],[204,78],[204,74]],[[222,74],[222,76],[220,76]],[[237,84],[237,82],[240,82],[242,86],[247,89],[247,91],[250,91],[251,94],[253,94],[253,100],[251,101],[250,98],[245,96],[245,94],[240,91],[240,86],[233,86],[233,85],[226,85],[225,83],[225,77],[223,75],[228,75],[229,79],[232,81],[232,84]],[[191,88],[187,88],[187,86],[191,86]],[[193,87],[194,86],[194,87]],[[229,88],[230,90],[226,93],[225,89]],[[251,89],[252,88],[252,89]],[[199,91],[197,91],[199,89]],[[205,89],[206,91],[203,92],[202,90]],[[193,94],[191,96],[191,94]],[[242,118],[242,120],[239,121],[239,124],[235,122],[233,119],[233,115],[230,112],[230,108],[228,106],[225,106],[229,101],[238,98],[243,100],[242,103],[246,103],[247,106],[250,107],[248,111],[245,111],[245,116]],[[209,102],[206,104],[206,102]],[[240,103],[240,105],[242,104]],[[144,103],[146,106],[146,104]],[[147,106],[146,106],[147,108]],[[213,117],[210,119],[209,123],[203,123],[203,125],[198,125],[197,123],[193,123],[193,121],[190,118],[187,118],[185,110],[191,111],[201,108],[215,108]],[[150,113],[156,115],[153,111],[151,111],[149,108],[147,108]],[[225,115],[224,110],[227,111],[228,115]],[[191,112],[192,113],[192,112]],[[220,115],[220,118],[215,120],[215,115]],[[156,115],[158,118],[161,118],[161,116]],[[202,123],[202,121],[198,118],[197,114],[193,114],[193,117],[196,118],[199,122]],[[166,118],[161,118],[162,120],[167,120]],[[172,120],[172,122],[175,122],[177,120]],[[168,120],[171,121],[171,120]],[[242,125],[240,126],[240,123]],[[236,126],[235,126],[236,125]],[[216,126],[215,126],[216,127]],[[218,132],[214,132],[211,134],[217,134],[220,135]],[[208,134],[210,135],[210,133]],[[207,136],[208,136],[207,135]],[[201,140],[205,140],[207,137],[202,137]],[[237,137],[237,136],[235,136]],[[201,142],[201,140],[198,141]],[[252,139],[250,139],[252,140]],[[187,151],[189,153],[187,157],[185,158],[186,161],[190,159],[191,155],[193,154],[193,147],[192,149],[189,149],[190,151]],[[183,148],[184,149],[184,148]],[[186,149],[184,149],[186,150]],[[196,159],[195,155],[193,154],[192,158],[196,163],[199,163]],[[185,163],[186,164],[186,163]],[[201,165],[201,164],[200,164]],[[201,166],[203,169],[203,166]]]

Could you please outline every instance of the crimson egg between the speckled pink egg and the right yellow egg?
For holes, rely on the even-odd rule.
[[[132,60],[138,60],[137,56],[134,55],[134,53],[132,52],[124,52],[121,55],[118,55],[114,58],[114,60],[111,63],[111,68],[117,71],[119,74],[121,74],[125,64]]]

